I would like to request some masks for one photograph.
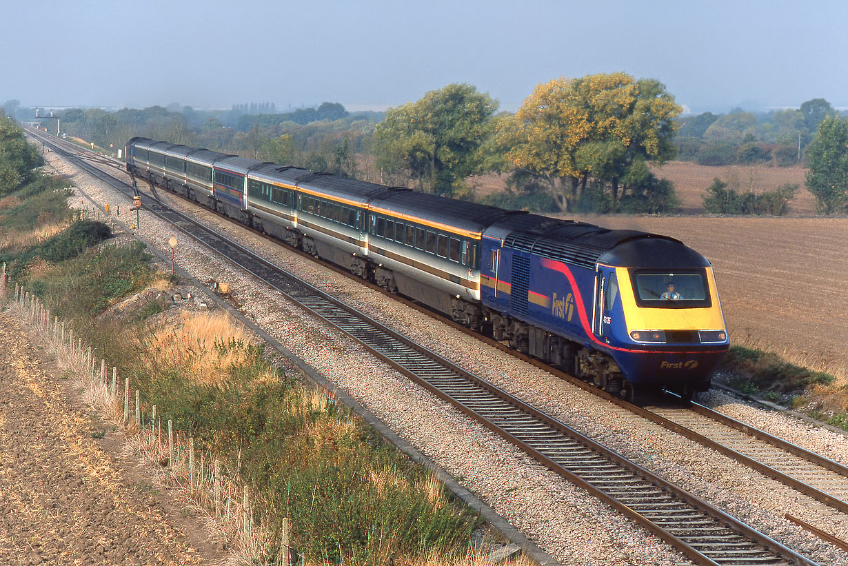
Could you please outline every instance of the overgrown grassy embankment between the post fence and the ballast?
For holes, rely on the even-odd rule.
[[[219,458],[250,486],[265,535],[242,549],[245,560],[279,559],[278,530],[289,518],[304,563],[471,563],[480,519],[432,473],[281,373],[228,315],[170,309],[170,294],[155,292],[169,278],[148,266],[141,245],[103,242],[109,228],[75,218],[60,182],[38,183],[0,202],[0,261],[98,357],[107,352],[107,364],[131,376],[146,419],[156,405],[206,462]],[[166,468],[167,450],[164,461],[158,453],[153,462]],[[213,505],[192,497],[197,507]]]

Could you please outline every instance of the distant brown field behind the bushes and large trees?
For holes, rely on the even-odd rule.
[[[770,191],[786,183],[800,186],[795,199],[789,203],[790,216],[812,216],[816,214],[816,199],[804,188],[806,169],[801,167],[767,167],[765,165],[728,165],[710,167],[687,161],[670,161],[652,171],[657,177],[666,178],[674,183],[674,189],[680,198],[680,212],[686,215],[704,214],[703,196],[706,188],[716,177],[724,182],[735,180],[741,190],[755,193]],[[503,191],[506,187],[506,175],[480,175],[469,181],[478,196]]]

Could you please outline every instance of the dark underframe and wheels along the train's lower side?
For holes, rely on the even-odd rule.
[[[131,175],[137,174],[134,171],[130,172]],[[566,373],[594,384],[611,395],[619,395],[629,401],[635,401],[639,395],[639,388],[625,380],[616,361],[603,352],[588,350],[572,340],[517,320],[505,313],[494,311],[484,305],[452,296],[447,291],[435,289],[425,283],[416,282],[419,291],[417,293],[403,293],[398,282],[404,276],[396,274],[382,264],[377,264],[356,254],[351,255],[342,252],[321,254],[318,244],[308,235],[274,222],[263,221],[259,216],[251,215],[246,210],[240,210],[238,207],[215,199],[211,195],[198,194],[195,189],[187,185],[176,184],[165,177],[150,173],[141,177],[148,182],[159,185],[159,187],[166,188],[172,193],[181,194],[199,205],[204,205],[224,216],[233,218],[245,226],[253,227],[261,233],[273,236],[294,248],[302,249],[307,254],[342,266],[355,276],[375,283],[389,293],[404,294],[413,300],[420,300],[431,308],[449,315],[454,322],[466,328],[505,342],[512,350],[558,367]],[[695,390],[695,387],[685,386],[678,393],[685,398],[691,398]]]

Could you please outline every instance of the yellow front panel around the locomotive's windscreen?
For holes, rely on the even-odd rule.
[[[622,295],[624,320],[631,330],[724,330],[724,315],[718,302],[716,278],[712,268],[706,268],[712,306],[703,309],[654,309],[636,305],[630,273],[626,267],[616,267],[616,278]]]

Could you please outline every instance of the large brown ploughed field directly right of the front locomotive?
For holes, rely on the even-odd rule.
[[[848,219],[563,217],[682,240],[715,268],[732,344],[845,375]]]

